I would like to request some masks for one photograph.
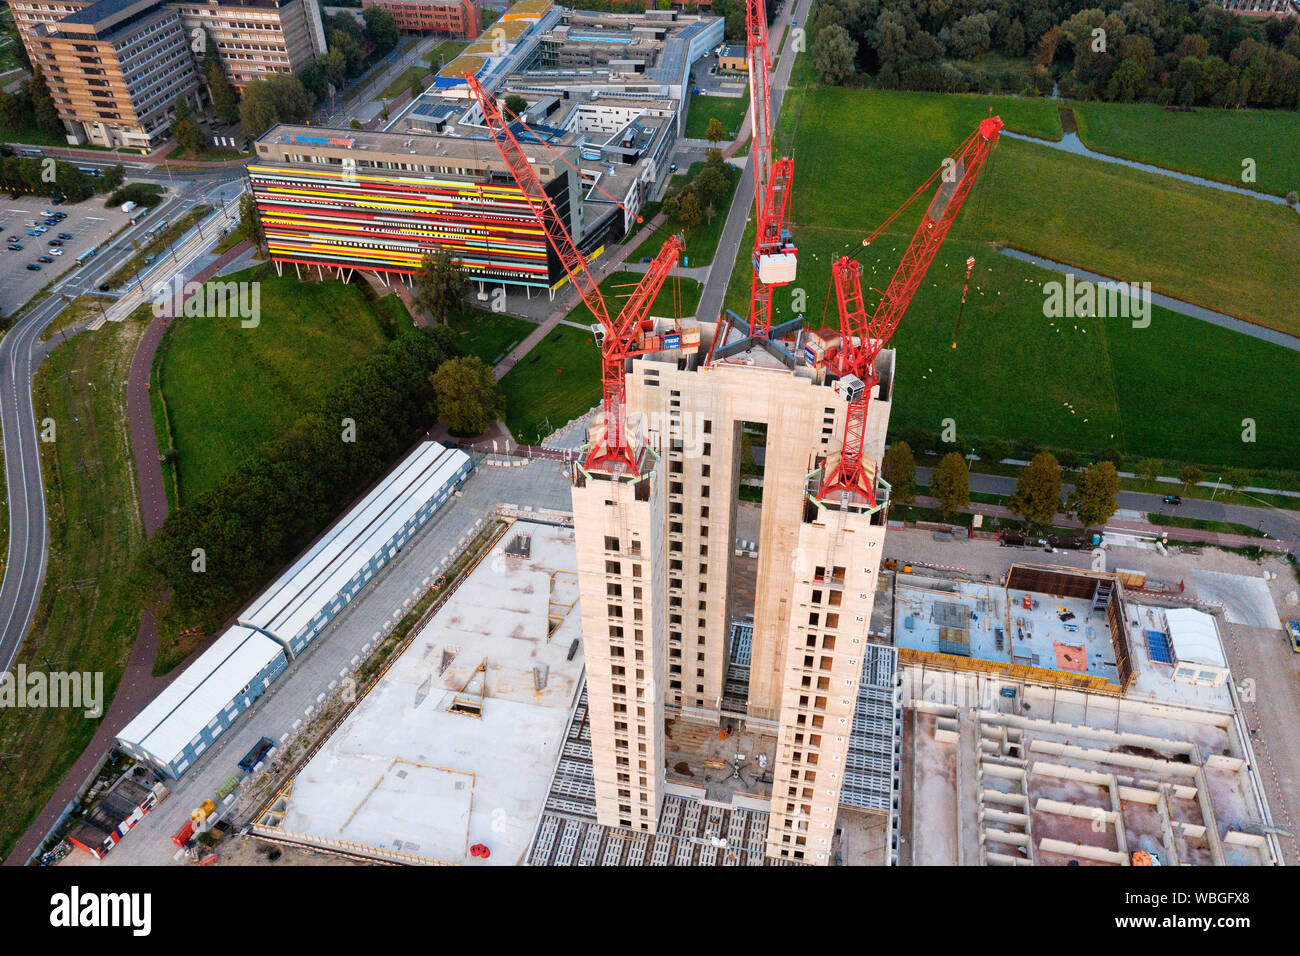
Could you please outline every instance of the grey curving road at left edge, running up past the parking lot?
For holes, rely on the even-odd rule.
[[[68,307],[64,295],[75,298],[92,291],[120,267],[124,256],[131,255],[134,235],[143,234],[160,219],[174,219],[199,202],[211,202],[228,190],[231,176],[230,172],[209,173],[199,182],[177,183],[177,190],[151,216],[118,235],[86,265],[56,281],[49,298],[38,303],[0,339],[0,394],[4,395],[0,438],[9,497],[9,558],[0,583],[0,670],[8,670],[22,648],[40,600],[48,561],[46,489],[31,399],[32,376],[44,354],[38,339]]]

